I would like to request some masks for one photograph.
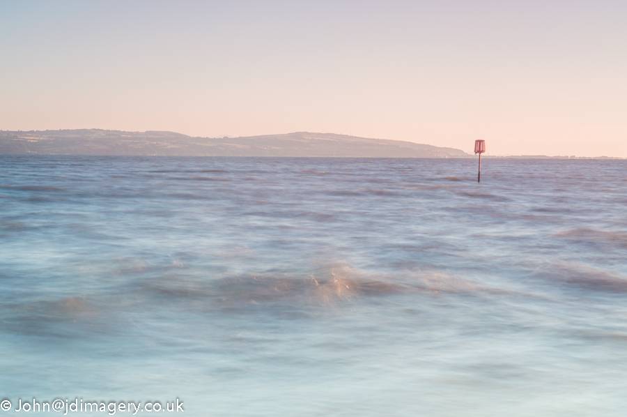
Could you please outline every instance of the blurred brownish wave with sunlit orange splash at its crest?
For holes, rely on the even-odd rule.
[[[195,275],[171,274],[144,280],[139,291],[169,300],[201,301],[204,307],[218,308],[279,303],[330,305],[397,294],[518,294],[444,272],[406,271],[388,276],[365,273],[346,264],[319,268],[304,276],[261,273],[203,280]]]

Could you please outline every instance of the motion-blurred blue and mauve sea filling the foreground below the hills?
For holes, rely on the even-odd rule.
[[[627,161],[0,157],[0,397],[624,416]]]

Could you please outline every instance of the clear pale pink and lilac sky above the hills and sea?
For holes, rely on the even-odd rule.
[[[0,0],[0,130],[627,157],[627,1]]]

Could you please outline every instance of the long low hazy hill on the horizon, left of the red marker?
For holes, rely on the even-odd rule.
[[[334,133],[293,132],[247,137],[191,137],[121,130],[0,131],[0,154],[111,156],[295,156],[459,158],[454,148]]]

